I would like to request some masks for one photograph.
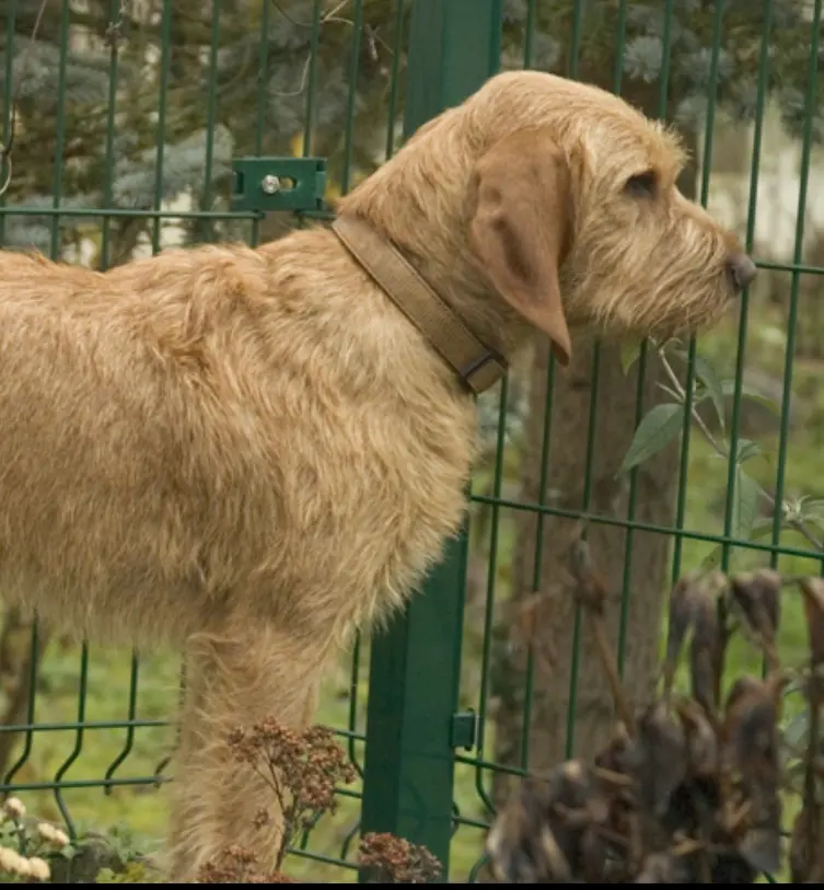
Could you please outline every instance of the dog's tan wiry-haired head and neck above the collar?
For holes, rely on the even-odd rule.
[[[502,331],[506,350],[525,321],[566,363],[570,328],[687,333],[752,280],[735,238],[678,190],[684,162],[676,136],[620,99],[509,72],[422,127],[345,204],[481,336]]]

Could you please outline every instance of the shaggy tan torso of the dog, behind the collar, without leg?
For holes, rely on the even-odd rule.
[[[419,336],[365,278],[346,285],[328,238],[105,275],[0,254],[5,596],[140,642],[321,606],[343,626],[401,596],[460,519],[472,412],[453,429],[430,411],[428,452],[415,402],[438,360],[428,383]]]

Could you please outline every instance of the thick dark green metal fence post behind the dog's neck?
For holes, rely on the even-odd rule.
[[[501,0],[415,0],[404,130],[496,72]],[[449,875],[463,625],[463,541],[451,541],[406,613],[372,642],[361,831],[425,844]],[[363,876],[361,876],[363,879]]]

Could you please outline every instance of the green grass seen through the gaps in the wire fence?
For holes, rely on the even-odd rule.
[[[780,337],[775,336],[778,325],[774,319],[765,316],[758,324],[751,324],[756,333],[748,344],[748,355],[757,360],[761,370],[780,379],[782,348]],[[732,361],[734,331],[721,328],[701,342],[701,352],[723,367]],[[793,396],[799,402],[800,421],[791,434],[791,444],[787,464],[787,495],[819,495],[817,486],[821,465],[821,443],[824,440],[824,386],[821,385],[824,369],[815,362],[798,362],[794,369]],[[777,423],[776,423],[777,429]],[[767,432],[759,438],[771,458],[758,458],[747,465],[748,472],[764,485],[773,487],[775,479],[775,452],[777,437]],[[687,486],[687,529],[722,531],[722,506],[727,484],[727,464],[719,460],[712,448],[694,430],[690,441],[690,461]],[[499,594],[508,596],[513,535],[506,511],[499,540]],[[794,532],[785,532],[781,543],[804,546]],[[711,544],[686,539],[683,547],[682,566],[688,570],[697,566],[712,548]],[[765,556],[752,552],[736,551],[733,566],[743,568],[763,565]],[[817,560],[782,556],[778,567],[789,574],[817,574]],[[477,632],[476,632],[477,633]],[[662,635],[663,637],[663,635]],[[806,632],[797,597],[788,593],[784,601],[780,652],[788,661],[798,661],[806,647]],[[477,658],[472,648],[465,647],[467,657]],[[84,718],[89,721],[118,720],[128,717],[128,690],[131,658],[129,652],[113,651],[97,646],[90,649],[89,675]],[[757,652],[743,643],[735,643],[729,658],[731,677],[744,672],[758,673],[761,660]],[[167,719],[177,704],[177,682],[179,662],[175,655],[159,652],[141,660],[136,706],[138,719]],[[76,647],[58,648],[56,644],[47,651],[42,670],[42,689],[36,700],[37,723],[74,721],[78,712],[78,678],[80,656]],[[350,687],[351,659],[341,659],[339,669],[326,685],[318,719],[333,727],[347,727],[349,723],[348,690]],[[368,646],[363,647],[358,678],[358,707],[352,728],[363,731],[365,723],[365,696],[368,679]],[[680,682],[684,682],[683,675]],[[477,698],[476,690],[465,690],[469,703]],[[788,702],[789,714],[797,703]],[[488,732],[494,731],[490,727]],[[127,741],[123,729],[86,729],[83,732],[79,755],[63,774],[65,781],[93,782],[102,779],[111,764],[123,753]],[[139,778],[152,776],[159,763],[170,752],[174,732],[170,728],[139,728],[134,733],[134,744],[123,761],[116,777]],[[345,742],[346,743],[346,742]],[[14,776],[20,784],[53,781],[78,747],[74,730],[35,732],[30,756]],[[487,736],[487,751],[492,751],[491,737]],[[363,745],[352,745],[356,760],[362,765]],[[476,767],[459,764],[456,770],[455,800],[463,817],[486,820],[488,813],[483,804],[480,788],[488,788],[490,775],[479,775]],[[358,790],[356,785],[355,790]],[[30,811],[47,819],[59,819],[60,809],[53,790],[22,791],[20,796]],[[100,787],[72,788],[62,791],[62,801],[76,827],[82,833],[86,828],[105,831],[113,825],[127,825],[134,835],[134,843],[142,851],[151,851],[163,836],[167,820],[167,795],[152,785],[118,787],[104,794]],[[791,816],[793,801],[788,801],[788,816]],[[312,832],[309,849],[322,856],[340,855],[347,836],[350,837],[350,858],[357,845],[352,831],[357,824],[358,804],[341,799],[339,809],[332,817],[324,817]],[[461,827],[453,843],[452,879],[460,881],[469,874],[483,846],[483,831],[473,827]],[[351,881],[350,870],[317,862],[290,857],[288,869],[297,877],[314,878],[320,881]]]

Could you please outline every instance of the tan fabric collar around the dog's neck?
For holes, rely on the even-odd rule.
[[[485,346],[399,251],[368,222],[340,216],[332,229],[466,389],[478,395],[507,373],[504,359]]]

